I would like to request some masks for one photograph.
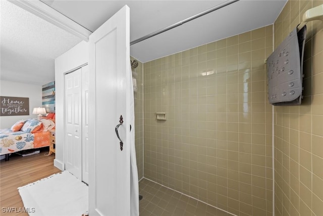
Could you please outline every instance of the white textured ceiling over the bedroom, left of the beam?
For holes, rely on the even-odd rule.
[[[0,79],[40,85],[55,80],[55,58],[81,39],[8,1],[0,2]]]

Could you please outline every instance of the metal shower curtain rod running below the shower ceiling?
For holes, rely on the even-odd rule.
[[[168,26],[168,27],[165,27],[165,28],[159,29],[159,30],[157,30],[157,31],[155,31],[155,32],[152,32],[152,33],[147,34],[147,35],[145,35],[145,36],[143,36],[143,37],[140,37],[140,38],[138,38],[138,39],[135,39],[135,40],[133,40],[133,41],[131,41],[131,42],[130,42],[130,46],[131,46],[131,45],[134,45],[134,44],[137,44],[137,42],[140,42],[140,41],[142,41],[142,40],[145,40],[145,39],[148,39],[148,38],[150,38],[150,37],[153,37],[153,36],[155,36],[155,35],[157,35],[157,34],[160,34],[160,33],[163,33],[163,32],[165,32],[165,31],[168,31],[168,30],[170,30],[170,29],[172,29],[172,28],[175,28],[175,27],[177,27],[177,26],[183,25],[184,23],[187,23],[187,22],[192,21],[192,20],[194,20],[194,19],[196,19],[196,18],[199,18],[199,17],[201,17],[201,16],[204,16],[204,15],[206,15],[206,14],[208,14],[208,13],[211,13],[211,12],[213,12],[213,11],[216,11],[216,10],[218,10],[218,9],[220,9],[220,8],[224,8],[224,7],[226,7],[226,6],[228,6],[228,5],[231,5],[232,3],[235,3],[235,2],[238,2],[238,1],[239,1],[239,0],[229,0],[229,1],[227,1],[227,2],[224,2],[224,3],[220,4],[220,5],[214,6],[214,7],[210,8],[210,9],[207,9],[206,11],[203,11],[203,12],[201,12],[201,13],[198,13],[198,14],[196,14],[196,15],[194,15],[194,16],[191,16],[191,17],[189,17],[189,18],[187,18],[187,19],[184,19],[184,20],[182,20],[182,21],[180,21],[180,22],[177,22],[177,23],[175,23],[175,24],[173,24],[173,25],[170,25],[170,26]]]

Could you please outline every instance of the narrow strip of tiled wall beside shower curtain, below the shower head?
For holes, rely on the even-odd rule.
[[[130,57],[131,60],[135,60]],[[133,78],[137,82],[137,92],[134,92],[135,101],[135,147],[139,180],[143,178],[143,76],[142,63],[138,61],[138,67],[132,68]]]

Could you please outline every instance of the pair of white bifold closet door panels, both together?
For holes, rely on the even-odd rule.
[[[65,74],[65,166],[88,183],[88,65]]]

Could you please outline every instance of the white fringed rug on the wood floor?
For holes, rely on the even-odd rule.
[[[18,190],[32,216],[81,216],[88,210],[88,186],[66,170]]]

